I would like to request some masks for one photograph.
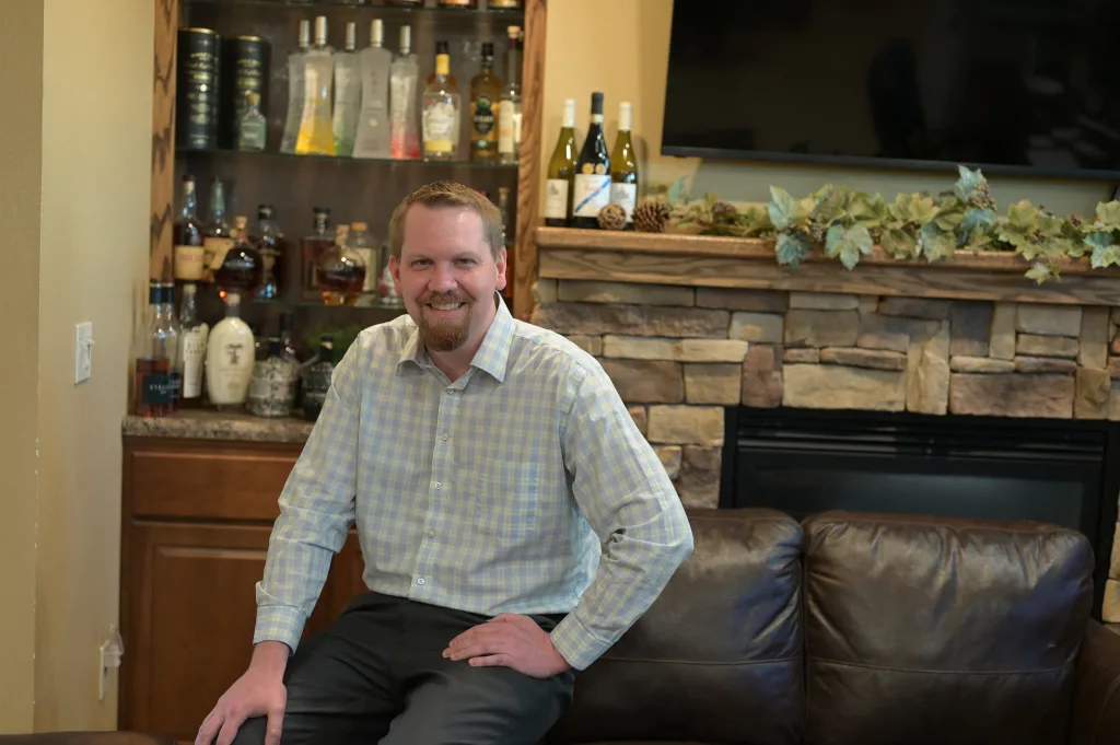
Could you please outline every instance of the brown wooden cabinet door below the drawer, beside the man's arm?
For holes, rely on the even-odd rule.
[[[271,527],[133,523],[131,531],[119,727],[193,741],[252,656]],[[314,631],[309,623],[305,637]]]

